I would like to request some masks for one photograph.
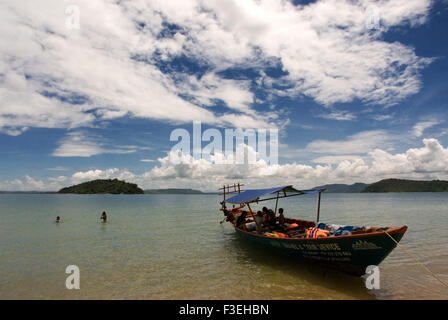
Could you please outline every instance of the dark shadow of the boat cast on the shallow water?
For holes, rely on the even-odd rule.
[[[276,252],[257,243],[247,241],[237,234],[227,242],[228,249],[236,254],[242,264],[250,264],[254,268],[270,269],[294,278],[298,286],[313,286],[334,291],[330,296],[321,297],[303,295],[304,299],[376,299],[375,294],[365,286],[362,277],[346,274],[327,265]],[[341,295],[338,297],[338,292]],[[288,299],[288,298],[284,298]]]

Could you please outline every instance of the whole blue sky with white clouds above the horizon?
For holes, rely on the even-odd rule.
[[[0,190],[448,179],[447,30],[447,0],[3,0]],[[278,161],[176,162],[193,122]]]

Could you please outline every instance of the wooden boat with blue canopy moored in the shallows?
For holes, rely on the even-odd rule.
[[[276,213],[279,199],[304,194],[318,194],[316,221],[319,222],[321,194],[325,189],[297,190],[292,186],[283,186],[243,191],[241,186],[241,184],[235,184],[220,189],[224,190],[222,193],[224,200],[221,202],[220,210],[224,212],[227,221],[233,225],[242,238],[277,252],[318,261],[349,274],[361,276],[365,274],[368,266],[378,266],[392,252],[407,230],[407,226],[398,228],[362,227],[346,235],[310,238],[306,235],[306,230],[309,231],[310,228],[316,227],[315,221],[285,218],[285,225],[297,224],[283,233],[287,235],[286,237],[276,237],[277,234],[261,232],[258,225],[256,230],[251,231],[247,226],[250,224],[253,226],[256,215],[256,212],[251,209],[251,204],[253,206],[262,201],[275,200]],[[232,197],[226,199],[228,195],[232,195]],[[267,198],[263,198],[266,196]],[[230,209],[226,206],[228,204],[239,205],[239,207]],[[235,218],[243,211],[247,214],[247,223],[236,226]],[[310,235],[310,232],[308,234]]]

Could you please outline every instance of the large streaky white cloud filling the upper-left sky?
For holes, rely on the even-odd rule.
[[[174,122],[226,123],[179,97],[183,92],[174,79],[162,73],[154,61],[131,58],[151,56],[166,47],[169,40],[156,40],[162,23],[154,19],[158,12],[146,12],[145,18],[153,21],[149,24],[153,29],[147,32],[136,27],[137,3],[128,3],[125,9],[112,1],[79,1],[81,28],[69,30],[64,15],[68,4],[50,0],[2,3],[3,132],[20,134],[24,126],[73,128],[126,114]],[[228,88],[225,100],[233,102],[229,108],[247,111],[251,93],[230,81],[222,82]],[[195,94],[194,90],[190,93]],[[229,101],[235,94],[239,97]],[[74,100],[76,104],[72,104]],[[87,113],[92,109],[96,112]]]

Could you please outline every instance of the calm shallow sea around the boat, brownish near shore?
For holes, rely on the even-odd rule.
[[[315,219],[316,196],[284,199]],[[396,248],[379,290],[294,261],[219,224],[217,195],[0,195],[0,299],[447,299]],[[99,222],[105,210],[109,220]],[[56,216],[62,223],[54,223]],[[321,220],[407,225],[401,244],[448,282],[448,193],[324,194]],[[81,289],[65,288],[77,265]]]

